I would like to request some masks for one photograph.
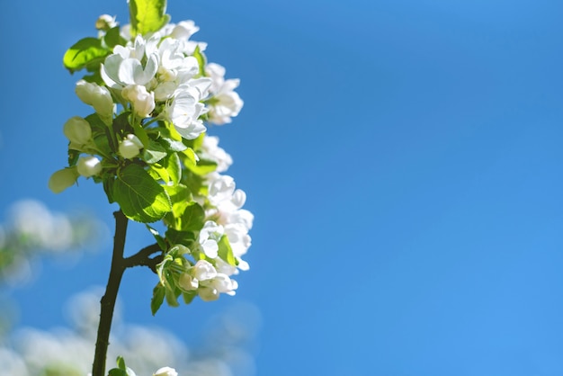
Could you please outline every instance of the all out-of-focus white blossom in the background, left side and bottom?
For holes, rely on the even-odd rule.
[[[58,213],[31,199],[17,201],[8,210],[0,225],[0,376],[84,376],[90,371],[103,287],[72,296],[64,309],[68,326],[50,330],[11,327],[17,307],[7,295],[33,282],[46,257],[76,264],[80,255],[100,249],[107,237],[109,229],[84,210],[76,215]],[[174,365],[186,376],[255,375],[253,354],[261,315],[252,304],[238,302],[209,318],[198,328],[201,338],[191,346],[169,329],[123,322],[121,310],[118,302],[108,368],[121,355],[135,364],[139,375],[150,375],[163,364]],[[171,328],[183,323],[179,319]]]

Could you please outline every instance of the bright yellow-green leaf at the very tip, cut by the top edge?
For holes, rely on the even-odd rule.
[[[166,0],[130,0],[129,9],[132,36],[158,31],[170,21]]]

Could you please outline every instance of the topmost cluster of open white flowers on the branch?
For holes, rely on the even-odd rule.
[[[168,24],[147,39],[138,35],[126,46],[116,46],[100,72],[105,85],[130,103],[137,116],[162,116],[185,139],[206,130],[202,114],[210,112],[211,123],[224,124],[243,106],[234,92],[238,80],[225,80],[224,67],[210,63],[204,67],[207,76],[200,76],[200,63],[192,55],[205,45],[189,40],[198,30],[192,21],[184,21]]]

